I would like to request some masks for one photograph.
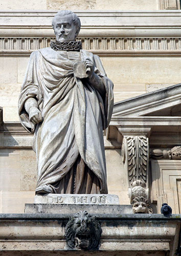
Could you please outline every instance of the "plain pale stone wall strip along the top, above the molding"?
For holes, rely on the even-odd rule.
[[[163,2],[163,3],[162,3]],[[169,2],[169,1],[167,1]],[[73,10],[117,10],[118,6],[120,10],[159,10],[164,9],[164,1],[162,0],[122,0],[122,1],[102,1],[102,0],[76,0],[71,3],[71,9]],[[163,6],[163,7],[162,7]],[[179,1],[170,0],[171,8],[177,9],[179,7]],[[1,10],[59,10],[70,9],[70,2],[65,0],[1,0]]]

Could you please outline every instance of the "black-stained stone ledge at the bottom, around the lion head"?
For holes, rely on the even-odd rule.
[[[177,250],[180,215],[99,215],[102,228],[98,251],[67,250],[65,225],[73,215],[0,215],[0,255],[174,255]],[[13,237],[13,239],[12,239]],[[156,243],[155,243],[156,240]],[[38,248],[38,249],[37,249]],[[22,254],[22,252],[24,254]],[[28,254],[32,252],[32,254]],[[111,254],[114,252],[114,254]],[[6,254],[9,253],[9,254]],[[103,254],[104,253],[104,254]],[[128,254],[129,253],[129,254]],[[51,254],[50,254],[51,255]]]

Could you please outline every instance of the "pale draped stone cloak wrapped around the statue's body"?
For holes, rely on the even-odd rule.
[[[51,48],[34,51],[19,97],[21,124],[34,134],[37,156],[37,188],[55,184],[65,177],[78,155],[98,177],[100,193],[107,193],[103,130],[113,109],[113,84],[100,58],[85,50],[81,60],[92,60],[95,73],[105,87],[104,97],[86,79],[74,77],[74,61]],[[25,110],[28,98],[35,98],[43,121],[33,124]]]

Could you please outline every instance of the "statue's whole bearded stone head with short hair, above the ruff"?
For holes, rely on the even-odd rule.
[[[80,19],[72,11],[59,11],[52,20],[58,42],[75,41],[80,31]]]

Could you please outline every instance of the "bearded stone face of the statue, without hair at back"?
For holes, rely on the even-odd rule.
[[[54,21],[54,31],[58,42],[74,41],[77,27],[74,25],[71,14],[56,16]]]

